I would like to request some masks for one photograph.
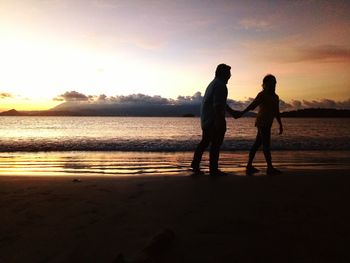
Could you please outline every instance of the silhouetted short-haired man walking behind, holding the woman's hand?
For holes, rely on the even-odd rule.
[[[191,167],[194,174],[203,174],[200,162],[205,149],[210,146],[209,172],[212,176],[225,175],[218,169],[220,147],[226,132],[225,111],[237,117],[238,112],[227,104],[226,84],[231,77],[231,67],[220,64],[216,68],[215,78],[205,91],[201,105],[202,140],[198,144]]]

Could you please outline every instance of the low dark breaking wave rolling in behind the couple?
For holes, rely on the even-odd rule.
[[[1,141],[0,152],[48,152],[48,151],[131,151],[131,152],[181,152],[193,151],[198,140],[16,140]],[[253,139],[228,139],[223,151],[248,151]],[[350,141],[342,139],[276,139],[272,150],[349,150]]]

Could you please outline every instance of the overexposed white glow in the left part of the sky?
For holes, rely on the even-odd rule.
[[[0,88],[32,99],[33,103],[51,100],[69,90],[91,95],[147,93],[175,97],[181,95],[177,87],[196,85],[191,75],[171,66],[152,64],[122,53],[65,46],[41,37],[12,34],[1,38],[0,35],[0,57]],[[30,107],[24,104],[25,108]]]

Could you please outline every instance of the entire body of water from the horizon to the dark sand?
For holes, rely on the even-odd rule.
[[[274,164],[298,169],[350,169],[350,119],[285,118],[272,128]],[[254,118],[227,119],[220,168],[245,175]],[[199,118],[0,117],[0,176],[188,175]],[[254,165],[264,171],[261,151]],[[208,170],[208,153],[202,168]],[[264,175],[262,172],[261,175]]]

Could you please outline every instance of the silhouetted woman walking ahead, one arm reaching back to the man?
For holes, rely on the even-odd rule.
[[[244,113],[254,110],[257,106],[259,106],[259,111],[255,122],[255,126],[257,127],[257,135],[249,152],[249,160],[246,167],[247,175],[251,175],[259,171],[253,166],[253,160],[256,151],[261,145],[263,146],[263,152],[267,163],[267,174],[274,175],[281,173],[281,171],[273,167],[270,152],[271,127],[274,118],[277,119],[279,124],[279,134],[283,133],[283,126],[279,111],[279,97],[275,93],[276,83],[277,81],[275,76],[266,75],[263,79],[263,90],[256,96],[254,101],[241,112],[241,115],[243,115]]]

